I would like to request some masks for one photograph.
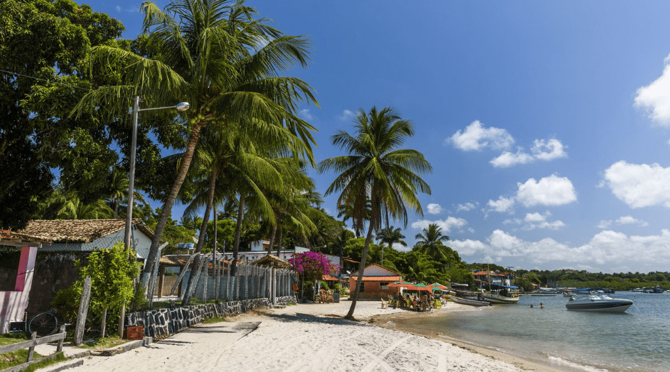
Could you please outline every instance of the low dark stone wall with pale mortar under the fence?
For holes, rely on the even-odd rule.
[[[287,303],[297,303],[295,296],[277,298],[277,305]],[[242,314],[257,307],[271,307],[269,298],[133,312],[126,315],[126,325],[144,326],[144,337],[158,340],[202,323],[205,319]]]

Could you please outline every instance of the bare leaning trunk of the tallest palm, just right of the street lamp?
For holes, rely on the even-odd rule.
[[[191,160],[193,160],[195,148],[200,138],[200,131],[202,130],[203,126],[205,126],[205,124],[206,121],[201,121],[199,124],[195,124],[193,126],[191,137],[189,138],[188,144],[186,146],[186,151],[181,158],[181,162],[179,163],[177,177],[172,184],[170,193],[168,194],[167,200],[163,204],[163,208],[160,212],[160,218],[158,219],[158,223],[156,223],[156,230],[153,232],[153,239],[151,239],[149,256],[146,257],[147,264],[144,265],[144,269],[142,270],[142,285],[144,285],[145,289],[149,287],[149,284],[151,284],[149,283],[149,280],[151,278],[151,273],[153,272],[153,263],[156,262],[156,255],[158,255],[160,238],[163,235],[163,230],[165,230],[165,225],[167,225],[167,219],[169,219],[172,214],[172,205],[174,205],[174,201],[177,198],[179,189],[181,189],[181,185],[183,185],[188,169],[191,166]]]

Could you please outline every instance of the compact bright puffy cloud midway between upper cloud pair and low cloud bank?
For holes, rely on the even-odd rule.
[[[533,205],[564,205],[577,201],[575,188],[567,177],[555,174],[539,181],[530,178],[526,183],[518,183],[517,201],[526,207]]]

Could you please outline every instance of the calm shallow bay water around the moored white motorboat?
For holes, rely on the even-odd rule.
[[[517,305],[407,319],[403,326],[530,355],[565,370],[670,371],[670,294],[610,296],[629,298],[634,305],[623,314],[569,312],[562,295],[521,296]]]

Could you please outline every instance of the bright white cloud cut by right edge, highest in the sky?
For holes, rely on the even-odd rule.
[[[654,124],[670,126],[670,55],[663,62],[660,78],[637,90],[635,107],[646,110]]]

